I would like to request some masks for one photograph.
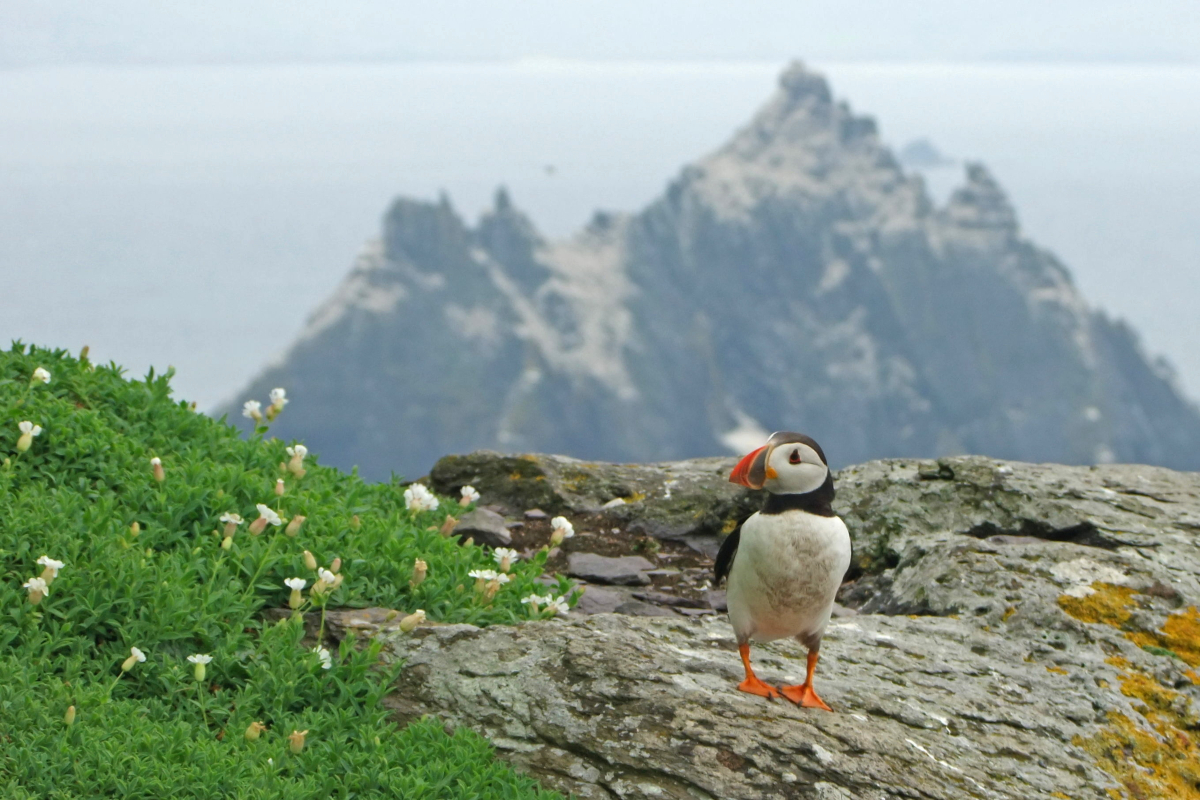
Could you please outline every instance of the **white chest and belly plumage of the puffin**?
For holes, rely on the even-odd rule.
[[[820,634],[850,566],[850,534],[838,517],[756,513],[742,525],[730,570],[730,621],[772,639]]]

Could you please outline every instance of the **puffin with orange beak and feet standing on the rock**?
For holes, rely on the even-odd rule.
[[[850,567],[850,531],[833,511],[833,474],[821,445],[780,431],[733,468],[730,481],[767,489],[762,510],[731,533],[716,555],[716,583],[727,581],[730,622],[745,667],[738,688],[803,708],[833,711],[812,685],[821,636]],[[750,667],[750,640],[793,637],[809,651],[798,686],[763,682]]]

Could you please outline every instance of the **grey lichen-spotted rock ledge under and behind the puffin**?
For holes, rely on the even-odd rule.
[[[703,540],[754,504],[714,479],[728,461],[469,459],[432,480],[469,477],[514,513],[616,510],[625,529]],[[834,714],[734,691],[724,615],[403,634],[342,612],[332,627],[407,663],[398,717],[468,726],[580,798],[1200,798],[1200,474],[964,457],[836,480],[857,614],[822,646]],[[695,505],[672,517],[680,497]],[[703,522],[662,522],[685,516]],[[766,680],[803,675],[794,643],[754,652]]]

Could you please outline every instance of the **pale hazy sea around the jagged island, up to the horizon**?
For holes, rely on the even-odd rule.
[[[1200,67],[815,64],[895,148],[982,160],[1028,236],[1200,397]],[[498,185],[547,236],[637,210],[780,62],[0,71],[0,341],[176,367],[212,408],[277,356],[398,194]],[[929,175],[944,198],[960,167]],[[421,342],[413,342],[421,347]]]

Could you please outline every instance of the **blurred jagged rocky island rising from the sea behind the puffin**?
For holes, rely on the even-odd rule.
[[[546,241],[400,199],[277,362],[272,434],[385,479],[479,447],[644,462],[804,427],[882,456],[1200,468],[1200,413],[970,164],[936,205],[800,65],[634,215]],[[218,411],[220,413],[220,411]],[[611,498],[610,498],[611,499]],[[548,511],[550,509],[546,507]],[[520,510],[518,510],[520,511]],[[649,523],[648,523],[649,524]]]

